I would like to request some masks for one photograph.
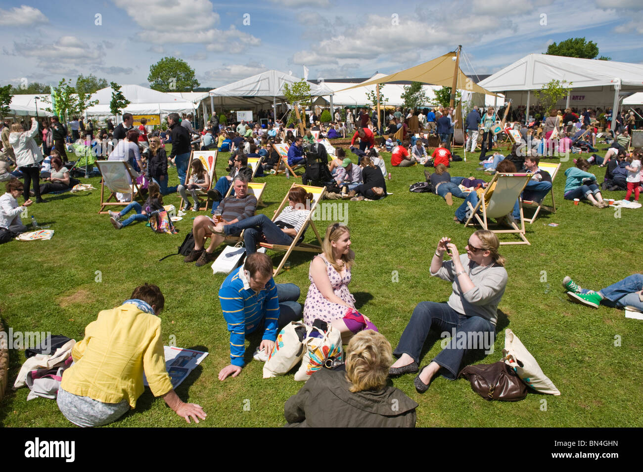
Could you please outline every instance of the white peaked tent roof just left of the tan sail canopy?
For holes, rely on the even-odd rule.
[[[212,89],[210,96],[215,97],[217,105],[267,104],[272,103],[273,97],[285,100],[283,94],[284,83],[292,85],[300,80],[300,78],[290,74],[271,70],[237,80],[237,82],[228,83],[228,85],[218,89]],[[323,85],[315,85],[314,83],[310,85],[312,96],[330,95],[332,93],[331,89]],[[220,98],[217,99],[217,97]]]

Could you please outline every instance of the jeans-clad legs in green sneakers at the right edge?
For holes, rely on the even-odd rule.
[[[587,290],[575,283],[571,277],[563,279],[563,286],[569,290],[567,296],[572,302],[581,303],[592,308],[599,304],[611,308],[626,308],[643,311],[643,274],[633,274],[601,290]]]

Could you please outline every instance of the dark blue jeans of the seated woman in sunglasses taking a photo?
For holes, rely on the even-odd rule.
[[[402,333],[393,354],[396,357],[408,354],[415,362],[420,363],[422,347],[431,327],[439,329],[441,333],[446,332],[451,337],[449,344],[432,360],[446,369],[447,372],[443,375],[451,380],[457,378],[464,355],[475,348],[491,349],[496,334],[496,327],[487,319],[460,315],[446,303],[420,302],[413,310],[413,315],[404,328],[404,333]],[[453,329],[455,329],[456,336],[453,336]],[[458,332],[466,335],[466,347],[462,347],[462,340],[457,342],[458,338],[463,336]],[[469,335],[469,333],[472,334]],[[474,341],[476,336],[480,336],[479,334],[473,335],[473,333],[482,333],[483,345],[475,345],[470,342]],[[485,333],[488,334],[485,335]],[[444,336],[442,337],[444,338]],[[487,345],[489,343],[485,340],[489,340],[491,344]],[[459,348],[458,345],[460,345]]]

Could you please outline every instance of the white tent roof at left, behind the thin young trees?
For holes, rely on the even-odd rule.
[[[87,109],[88,115],[109,116],[109,102],[112,100],[112,88],[105,87],[96,91],[91,100],[98,100],[96,105]],[[122,85],[121,93],[131,103],[125,107],[123,112],[138,115],[167,114],[167,113],[190,113],[194,110],[192,101],[173,96],[153,89],[147,89],[140,85]]]

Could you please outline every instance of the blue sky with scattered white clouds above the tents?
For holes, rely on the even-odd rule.
[[[462,69],[488,74],[569,37],[643,63],[641,13],[642,0],[1,0],[0,83],[92,73],[148,86],[165,56],[188,62],[204,87],[267,69],[302,76],[304,65],[309,78],[368,77],[458,44]]]

